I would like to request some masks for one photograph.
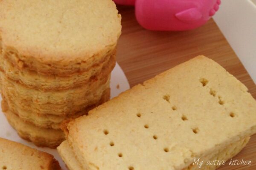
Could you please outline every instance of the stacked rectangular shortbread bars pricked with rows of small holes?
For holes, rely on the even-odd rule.
[[[65,133],[58,151],[70,170],[194,170],[197,158],[227,160],[245,146],[256,101],[198,56],[70,121]]]

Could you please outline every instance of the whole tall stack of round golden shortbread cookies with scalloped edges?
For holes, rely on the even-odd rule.
[[[121,17],[112,0],[0,1],[2,110],[38,146],[107,101]]]

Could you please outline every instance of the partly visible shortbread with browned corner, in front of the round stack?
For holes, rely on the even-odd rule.
[[[23,144],[0,138],[1,170],[61,170],[54,157]]]

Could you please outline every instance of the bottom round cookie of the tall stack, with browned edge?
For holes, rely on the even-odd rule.
[[[33,124],[24,122],[17,115],[12,113],[5,101],[2,101],[1,106],[9,124],[17,130],[21,138],[32,141],[39,147],[50,148],[56,148],[64,141],[64,133],[61,130],[36,127]]]

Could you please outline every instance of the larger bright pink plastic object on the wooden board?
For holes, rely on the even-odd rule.
[[[183,31],[206,23],[221,0],[136,0],[136,18],[150,30]]]

